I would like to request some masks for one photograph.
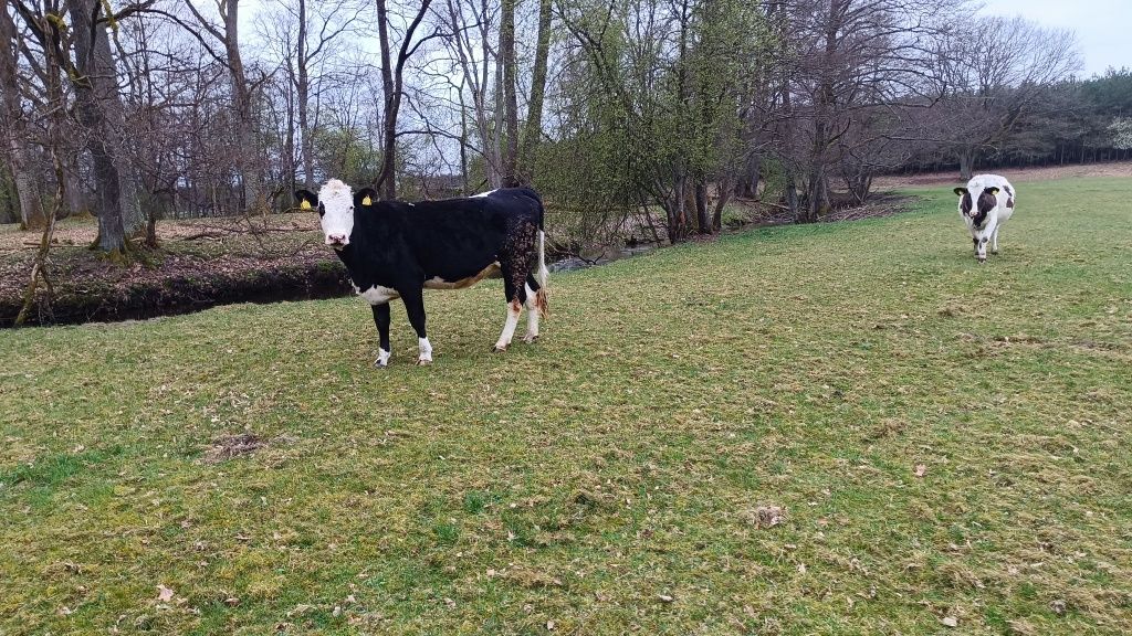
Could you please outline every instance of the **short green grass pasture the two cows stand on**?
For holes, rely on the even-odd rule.
[[[504,355],[429,292],[429,368],[353,299],[2,333],[0,634],[1127,634],[1132,180],[981,267],[923,194],[559,275]]]

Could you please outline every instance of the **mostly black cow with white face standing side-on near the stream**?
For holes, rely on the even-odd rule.
[[[370,188],[354,192],[331,179],[314,195],[294,194],[302,208],[317,208],[326,244],[345,264],[354,290],[374,308],[380,350],[389,363],[389,301],[405,303],[417,330],[418,364],[432,361],[424,332],[424,289],[458,290],[501,277],[507,320],[495,344],[504,351],[526,307],[524,341],[539,337],[547,312],[546,235],[542,200],[530,188],[505,188],[464,199],[379,201]]]

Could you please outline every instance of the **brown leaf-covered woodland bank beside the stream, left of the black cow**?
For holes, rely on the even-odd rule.
[[[312,217],[312,218],[311,218]],[[93,220],[68,220],[49,255],[29,325],[187,313],[217,304],[333,298],[352,292],[345,268],[321,244],[311,214],[162,222],[162,249],[120,266],[86,248]],[[0,232],[0,326],[11,326],[32,270],[35,232]],[[7,248],[7,249],[5,249]]]

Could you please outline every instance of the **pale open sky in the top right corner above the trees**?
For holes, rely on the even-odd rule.
[[[1077,32],[1081,75],[1132,68],[1132,0],[983,0],[984,14],[1022,16]]]

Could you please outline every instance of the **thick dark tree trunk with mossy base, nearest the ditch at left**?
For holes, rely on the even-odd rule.
[[[118,92],[110,37],[101,25],[95,27],[102,5],[98,0],[67,0],[74,22],[75,55],[78,77],[75,85],[79,121],[87,129],[94,177],[94,210],[98,217],[97,248],[121,255],[126,250],[127,225],[139,224],[142,215],[129,177],[123,146],[125,117]]]

